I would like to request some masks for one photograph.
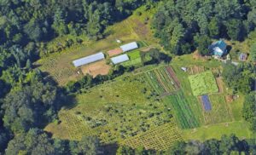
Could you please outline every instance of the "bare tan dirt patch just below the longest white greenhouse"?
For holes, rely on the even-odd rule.
[[[107,75],[111,66],[106,64],[106,60],[101,60],[93,64],[82,66],[81,71],[84,75],[90,74],[93,78],[97,75]]]

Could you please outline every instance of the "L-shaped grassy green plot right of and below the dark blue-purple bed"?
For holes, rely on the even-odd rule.
[[[205,123],[226,123],[232,121],[232,114],[225,101],[224,95],[209,95],[212,110],[203,112]]]

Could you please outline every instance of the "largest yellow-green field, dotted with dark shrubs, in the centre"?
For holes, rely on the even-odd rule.
[[[72,140],[98,135],[106,143],[123,141],[171,122],[171,105],[151,93],[140,76],[122,76],[78,95],[76,106],[59,113],[61,125]]]

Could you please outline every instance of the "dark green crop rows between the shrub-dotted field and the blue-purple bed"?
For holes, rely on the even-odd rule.
[[[182,91],[178,91],[175,95],[166,96],[163,99],[166,104],[170,104],[174,111],[174,115],[182,129],[192,129],[200,126],[200,121],[195,112],[193,112],[192,104],[186,100]]]

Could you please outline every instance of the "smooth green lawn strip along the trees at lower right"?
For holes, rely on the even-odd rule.
[[[239,138],[251,138],[252,132],[245,122],[219,123],[203,126],[197,129],[187,129],[183,131],[186,141],[199,140],[206,141],[212,138],[220,139],[221,135],[236,134]]]

